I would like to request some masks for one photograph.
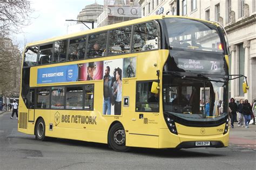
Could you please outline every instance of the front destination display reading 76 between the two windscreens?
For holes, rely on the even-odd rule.
[[[210,60],[178,59],[178,67],[184,70],[220,73],[220,62]]]

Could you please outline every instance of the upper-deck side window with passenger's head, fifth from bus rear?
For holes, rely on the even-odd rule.
[[[89,36],[86,58],[95,58],[105,55],[107,32]]]

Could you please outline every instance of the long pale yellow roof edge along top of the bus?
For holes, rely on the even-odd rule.
[[[84,34],[91,34],[91,33],[95,33],[95,32],[111,30],[111,29],[115,29],[117,27],[123,27],[123,26],[126,26],[126,25],[143,23],[143,22],[148,22],[150,20],[163,19],[163,18],[187,18],[187,19],[194,19],[194,20],[201,20],[203,22],[208,22],[207,20],[202,20],[202,19],[197,19],[197,18],[190,18],[190,17],[184,17],[184,16],[161,16],[161,15],[154,15],[154,16],[148,16],[148,17],[133,19],[133,20],[129,20],[129,21],[126,21],[126,22],[117,23],[117,24],[102,26],[102,27],[98,27],[98,28],[92,29],[92,30],[86,30],[86,31],[81,31],[81,32],[77,32],[77,33],[66,34],[65,36],[59,36],[59,37],[53,37],[53,38],[50,38],[50,39],[35,41],[35,42],[28,43],[26,45],[26,47],[34,46],[34,45],[40,45],[40,44],[45,44],[45,43],[53,42],[53,41],[57,41],[57,40],[63,40],[63,39],[68,39],[68,38],[73,38],[73,37],[79,37],[79,36],[83,36]],[[208,22],[208,23],[215,24],[215,23],[212,23],[212,22]],[[215,25],[217,25],[217,24],[215,24]]]

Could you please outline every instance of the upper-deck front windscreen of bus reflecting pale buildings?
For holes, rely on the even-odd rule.
[[[171,49],[223,53],[217,26],[187,18],[165,18]]]

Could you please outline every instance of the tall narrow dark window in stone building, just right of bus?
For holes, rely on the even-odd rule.
[[[243,44],[238,45],[238,69],[240,75],[245,75],[245,48],[243,47]],[[244,96],[244,91],[242,91],[242,82],[244,81],[244,77],[239,78],[239,96]]]

